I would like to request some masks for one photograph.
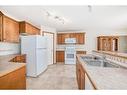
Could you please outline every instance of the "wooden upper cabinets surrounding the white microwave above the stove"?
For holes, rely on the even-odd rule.
[[[57,44],[65,44],[66,38],[76,38],[76,44],[85,43],[85,33],[58,33]]]

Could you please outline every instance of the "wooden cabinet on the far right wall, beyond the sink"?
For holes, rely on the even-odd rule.
[[[97,50],[118,51],[118,36],[99,36],[97,37]]]

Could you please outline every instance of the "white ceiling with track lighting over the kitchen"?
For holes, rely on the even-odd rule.
[[[127,6],[0,6],[0,9],[18,20],[26,20],[38,27],[53,27],[57,31],[127,27]],[[45,11],[65,18],[65,23],[47,17]]]

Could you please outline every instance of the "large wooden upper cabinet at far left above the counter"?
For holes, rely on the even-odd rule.
[[[19,42],[18,21],[5,16],[2,12],[0,12],[0,41]]]

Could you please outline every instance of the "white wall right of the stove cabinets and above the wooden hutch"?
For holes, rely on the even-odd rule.
[[[126,30],[89,30],[86,32],[86,50],[88,51],[88,53],[90,53],[92,50],[96,50],[97,49],[97,36],[102,36],[102,35],[127,35],[127,31]]]

